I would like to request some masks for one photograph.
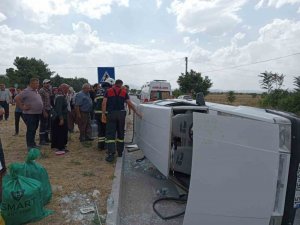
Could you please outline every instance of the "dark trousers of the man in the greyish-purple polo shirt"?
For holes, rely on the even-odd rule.
[[[39,126],[40,114],[23,114],[23,118],[27,127],[26,144],[27,148],[36,146],[35,134]]]

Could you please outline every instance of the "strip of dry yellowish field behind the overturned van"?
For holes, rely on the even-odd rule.
[[[227,100],[226,93],[210,93],[205,97],[205,101],[207,102],[215,102],[222,104],[230,104],[230,105],[245,105],[258,107],[258,103],[260,100],[260,95],[258,94],[235,94],[236,99],[233,103],[229,103]]]

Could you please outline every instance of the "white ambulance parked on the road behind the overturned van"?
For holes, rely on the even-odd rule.
[[[168,99],[172,96],[171,84],[166,80],[153,80],[141,88],[141,102]]]

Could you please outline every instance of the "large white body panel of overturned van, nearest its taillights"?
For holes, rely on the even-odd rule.
[[[193,113],[193,124],[184,225],[269,225],[276,205],[278,124],[204,113]]]

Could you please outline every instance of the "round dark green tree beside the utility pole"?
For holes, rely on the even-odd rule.
[[[208,89],[212,86],[212,82],[207,76],[203,78],[201,73],[197,73],[194,70],[187,72],[187,74],[181,73],[177,83],[182,93],[191,93],[193,97],[198,92],[203,92],[204,96],[207,95],[209,93]]]

